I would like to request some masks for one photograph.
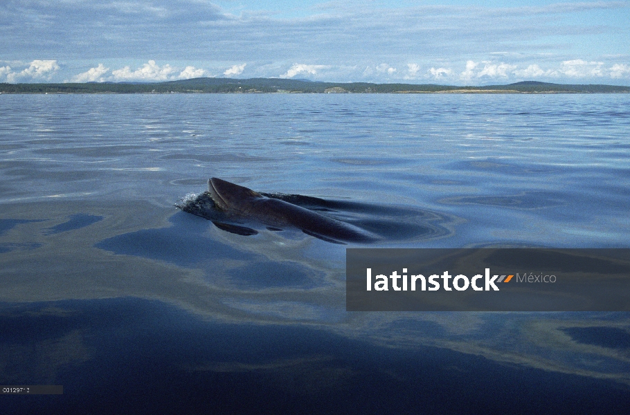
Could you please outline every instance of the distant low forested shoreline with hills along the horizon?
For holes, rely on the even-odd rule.
[[[195,78],[152,83],[87,82],[0,84],[0,94],[20,93],[630,93],[630,86],[551,84],[524,81],[507,85],[451,86],[436,84],[371,84],[313,82],[279,78]]]

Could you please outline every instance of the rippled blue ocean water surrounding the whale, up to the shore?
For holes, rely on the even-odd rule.
[[[628,313],[348,313],[345,248],[221,230],[209,177],[370,247],[630,247],[630,95],[1,95],[10,413],[619,414]]]

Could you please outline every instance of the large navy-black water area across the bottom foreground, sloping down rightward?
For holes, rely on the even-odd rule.
[[[6,305],[0,327],[0,381],[64,386],[60,396],[6,399],[7,413],[630,411],[627,387],[604,380],[435,347],[381,347],[309,326],[208,322],[146,299]],[[20,365],[7,365],[11,358]]]

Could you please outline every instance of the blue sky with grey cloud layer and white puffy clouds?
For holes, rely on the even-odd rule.
[[[630,1],[1,0],[0,82],[630,86]]]

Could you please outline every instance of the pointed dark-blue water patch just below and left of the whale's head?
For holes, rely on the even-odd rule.
[[[179,266],[195,266],[207,259],[252,259],[246,253],[212,239],[206,234],[208,222],[178,212],[168,228],[143,229],[120,234],[96,243],[96,248],[118,255],[133,255],[167,261]]]

